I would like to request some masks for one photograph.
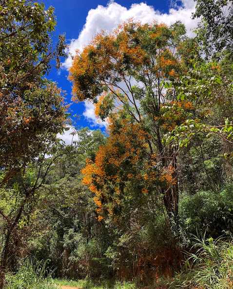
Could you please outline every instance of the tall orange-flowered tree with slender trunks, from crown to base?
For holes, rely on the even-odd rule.
[[[74,58],[70,68],[73,100],[91,100],[101,119],[110,116],[108,144],[100,147],[95,162],[88,162],[83,171],[84,182],[96,192],[99,207],[111,191],[122,193],[127,180],[142,180],[143,169],[153,164],[153,190],[162,194],[169,217],[178,214],[176,156],[162,138],[184,120],[162,118],[161,105],[176,103],[175,90],[171,88],[174,94],[166,97],[166,88],[185,71],[177,53],[184,34],[180,22],[169,28],[129,21],[112,34],[97,34]],[[179,105],[192,109],[189,103]],[[116,179],[125,185],[115,186]],[[147,187],[141,187],[143,190],[146,192]],[[108,211],[113,213],[110,207]]]

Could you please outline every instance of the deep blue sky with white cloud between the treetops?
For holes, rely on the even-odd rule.
[[[70,44],[71,54],[87,44],[99,30],[109,30],[131,17],[142,22],[165,22],[171,25],[177,20],[186,24],[188,35],[197,21],[191,20],[194,11],[194,0],[44,0],[45,7],[55,7],[57,28],[55,35],[66,34],[66,42]],[[71,57],[63,60],[59,73],[52,70],[49,78],[67,92],[67,102],[70,102],[72,83],[67,80]],[[82,115],[78,121],[80,126],[91,129],[104,129],[105,124],[98,124],[91,103],[73,103],[72,114]]]

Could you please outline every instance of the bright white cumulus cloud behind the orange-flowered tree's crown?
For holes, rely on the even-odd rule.
[[[180,20],[185,24],[188,36],[192,36],[193,32],[190,29],[197,26],[197,20],[191,19],[194,8],[194,0],[171,0],[169,13],[161,13],[155,10],[153,6],[149,6],[143,2],[132,4],[129,9],[121,6],[114,0],[111,0],[107,6],[98,5],[96,9],[91,9],[88,12],[86,23],[77,36],[78,38],[71,40],[68,50],[69,57],[63,63],[62,67],[68,69],[72,64],[72,55],[75,55],[77,49],[82,50],[83,45],[88,44],[97,32],[101,30],[112,31],[122,21],[126,21],[132,17],[135,20],[140,20],[142,23],[157,20],[167,25],[171,25],[175,21]],[[85,117],[97,125],[93,105],[85,103],[85,108]],[[100,125],[106,125],[106,123],[101,123]]]

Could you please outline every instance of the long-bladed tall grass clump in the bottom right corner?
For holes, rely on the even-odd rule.
[[[181,272],[167,283],[169,288],[233,288],[233,240],[194,237],[192,250]]]

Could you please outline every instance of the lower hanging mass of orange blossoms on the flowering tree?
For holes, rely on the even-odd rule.
[[[137,164],[144,162],[143,147],[147,148],[147,134],[140,124],[132,124],[128,119],[121,119],[119,123],[112,119],[110,127],[107,144],[101,145],[95,161],[87,160],[85,168],[82,169],[83,184],[96,194],[94,201],[99,220],[102,220],[104,211],[113,214],[114,207],[120,204],[125,177],[128,181],[136,178],[145,180],[140,175]],[[148,177],[154,177],[153,171]],[[148,193],[146,188],[143,193]]]

